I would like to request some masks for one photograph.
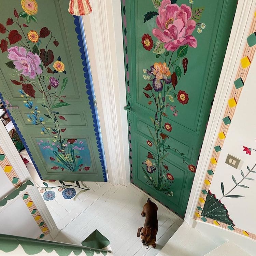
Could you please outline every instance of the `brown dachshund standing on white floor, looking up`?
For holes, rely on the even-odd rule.
[[[138,228],[137,237],[141,237],[144,246],[156,247],[156,234],[158,231],[157,205],[150,198],[143,206],[141,215],[146,216],[144,227]]]

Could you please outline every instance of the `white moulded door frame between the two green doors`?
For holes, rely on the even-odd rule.
[[[123,27],[120,0],[91,1],[83,16],[109,182],[130,183]]]

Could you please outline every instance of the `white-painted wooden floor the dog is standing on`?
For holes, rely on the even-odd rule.
[[[81,244],[91,232],[98,229],[110,240],[116,256],[153,256],[166,244],[182,221],[158,204],[159,230],[155,249],[142,246],[137,229],[144,224],[140,215],[146,202],[141,190],[108,183],[85,182],[91,189],[76,200],[64,199],[56,192],[52,201],[45,201],[61,232],[54,239],[59,242]],[[47,240],[51,237],[47,236]]]

